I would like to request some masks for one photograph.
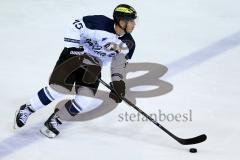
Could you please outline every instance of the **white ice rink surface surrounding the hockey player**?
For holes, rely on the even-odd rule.
[[[63,49],[66,25],[85,15],[111,17],[119,3],[138,11],[132,34],[136,50],[130,63],[166,66],[168,71],[159,79],[173,86],[159,96],[136,96],[137,106],[158,118],[159,112],[169,115],[170,120],[159,123],[177,136],[204,133],[207,141],[182,146],[154,124],[134,117],[137,112],[125,103],[92,120],[66,122],[57,138],[48,139],[39,129],[55,102],[14,131],[15,111],[48,82]],[[1,0],[0,159],[238,160],[239,6],[238,0]],[[102,78],[109,82],[108,66],[103,70],[107,74]],[[130,72],[128,78],[146,70]],[[151,89],[154,86],[145,82],[130,90],[144,95]],[[108,92],[104,86],[100,90]],[[126,119],[126,114],[133,116]],[[188,117],[172,120],[177,114]],[[190,147],[198,153],[189,153]]]

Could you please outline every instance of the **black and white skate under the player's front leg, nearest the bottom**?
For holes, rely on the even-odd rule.
[[[60,121],[59,117],[53,113],[44,123],[44,126],[41,128],[40,132],[48,138],[54,138],[60,133],[57,127],[61,124],[62,122]]]

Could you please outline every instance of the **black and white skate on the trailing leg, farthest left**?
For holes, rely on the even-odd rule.
[[[28,117],[34,112],[30,106],[30,104],[24,104],[16,111],[14,129],[23,127],[26,124]]]

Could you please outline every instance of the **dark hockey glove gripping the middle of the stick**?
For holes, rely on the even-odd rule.
[[[116,103],[121,103],[122,99],[119,96],[121,97],[125,96],[125,89],[126,89],[125,82],[123,80],[113,81],[110,83],[110,85],[112,86],[114,91],[110,92],[109,97],[112,98]]]

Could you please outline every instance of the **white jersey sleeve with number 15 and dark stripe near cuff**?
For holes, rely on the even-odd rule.
[[[67,26],[64,35],[64,46],[67,48],[79,48],[81,36],[83,36],[85,30],[85,24],[81,19],[72,21],[72,23]]]

